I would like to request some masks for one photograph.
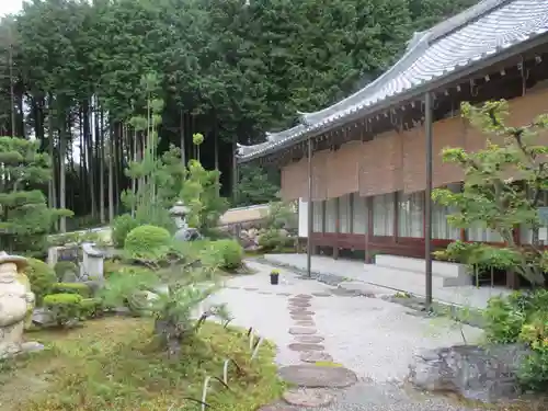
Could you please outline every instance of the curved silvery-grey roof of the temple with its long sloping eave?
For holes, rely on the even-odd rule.
[[[504,8],[501,7],[493,12],[498,14],[483,15],[500,5],[504,5]],[[525,8],[529,14],[523,16],[520,22],[516,12],[524,11]],[[499,12],[499,10],[501,11]],[[375,82],[323,111],[301,113],[301,125],[281,133],[269,134],[267,141],[239,150],[238,161],[248,162],[271,155],[308,137],[332,129],[340,124],[375,114],[402,101],[416,100],[418,96],[427,91],[439,89],[444,84],[457,81],[459,78],[470,76],[475,71],[547,42],[548,2],[488,0],[467,10],[464,14],[466,15],[459,14],[424,34],[416,34],[411,39],[406,55]],[[477,24],[473,26],[475,23],[470,23],[470,21],[479,15],[482,15],[482,19],[477,20]],[[496,25],[493,22],[506,24],[503,24],[501,31],[498,31],[498,28],[493,28]],[[467,24],[472,24],[468,32],[466,30],[454,32]],[[490,31],[490,36],[487,36],[487,39],[480,37],[486,45],[479,47],[479,50],[468,47],[466,39],[470,31],[478,31],[479,35],[482,35],[484,31]],[[449,32],[452,34],[448,34]],[[442,38],[443,36],[445,37]],[[437,43],[429,45],[433,38]],[[455,54],[460,53],[463,56],[456,61],[448,59],[450,64],[446,64],[445,60],[435,61],[436,57],[452,56],[450,47],[454,48]],[[475,53],[467,54],[468,48]],[[424,67],[424,60],[431,62],[431,67]],[[343,102],[346,102],[346,107],[341,110],[340,105]],[[349,105],[349,102],[352,104]]]

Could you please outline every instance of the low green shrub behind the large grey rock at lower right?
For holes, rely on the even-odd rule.
[[[526,389],[548,388],[548,290],[513,293],[491,298],[484,311],[486,336],[491,343],[522,342],[532,350],[518,373]]]

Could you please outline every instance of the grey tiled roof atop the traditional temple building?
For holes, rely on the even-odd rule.
[[[266,141],[238,147],[240,161],[248,161],[290,146],[299,137],[357,112],[375,111],[388,99],[530,41],[548,32],[548,0],[483,0],[463,13],[415,33],[403,57],[377,80],[346,99],[315,113],[301,113],[300,125],[267,133]]]

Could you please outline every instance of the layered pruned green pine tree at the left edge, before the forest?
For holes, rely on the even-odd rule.
[[[52,178],[50,160],[38,153],[38,141],[0,137],[0,243],[12,252],[42,251],[46,235],[55,221],[71,216],[67,209],[49,208],[42,191],[28,186],[44,184]]]

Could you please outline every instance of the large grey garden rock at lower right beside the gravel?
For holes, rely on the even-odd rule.
[[[528,354],[522,345],[455,345],[422,352],[409,366],[409,381],[427,391],[455,392],[483,402],[515,397],[516,370]]]

